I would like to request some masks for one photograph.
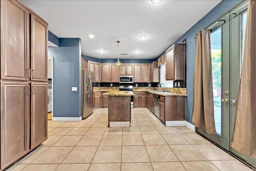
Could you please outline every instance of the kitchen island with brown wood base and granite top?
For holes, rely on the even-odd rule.
[[[108,127],[130,127],[133,91],[109,91],[102,95],[108,96]]]

